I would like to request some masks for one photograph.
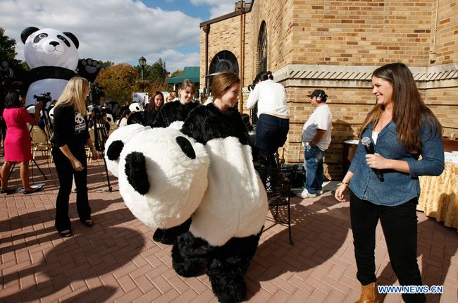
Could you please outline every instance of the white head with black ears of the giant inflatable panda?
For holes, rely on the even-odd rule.
[[[24,57],[30,68],[56,66],[75,70],[78,66],[78,39],[71,32],[52,28],[27,27],[20,35]]]

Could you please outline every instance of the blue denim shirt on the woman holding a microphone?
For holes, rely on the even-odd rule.
[[[369,125],[361,138],[369,137],[373,144],[372,128],[373,125]],[[404,145],[397,140],[396,134],[396,125],[390,121],[378,134],[375,152],[385,159],[407,161],[410,173],[392,169],[380,170],[384,178],[384,181],[381,182],[376,173],[367,165],[366,149],[360,141],[349,166],[349,171],[354,173],[349,187],[359,199],[385,206],[403,204],[419,197],[419,175],[440,175],[444,170],[442,138],[438,133],[431,134],[430,126],[424,120],[421,128],[421,160],[419,160],[419,154],[411,154],[405,149]]]

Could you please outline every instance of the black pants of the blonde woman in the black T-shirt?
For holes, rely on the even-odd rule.
[[[70,160],[54,147],[53,151],[54,163],[56,163],[56,171],[59,179],[59,191],[56,199],[56,229],[58,231],[70,229],[70,217],[68,216],[68,202],[70,200],[70,192],[72,190],[72,179],[75,177],[76,185],[76,209],[80,221],[86,221],[91,218],[91,208],[87,198],[87,163],[84,152],[74,154],[76,159],[85,167],[82,171],[75,171]]]

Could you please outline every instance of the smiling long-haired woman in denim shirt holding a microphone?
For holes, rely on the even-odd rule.
[[[422,285],[416,261],[419,175],[440,175],[444,169],[442,128],[421,100],[409,68],[403,63],[382,66],[373,72],[372,85],[377,103],[366,116],[359,138],[368,137],[375,154],[367,154],[359,142],[335,191],[335,198],[345,202],[343,194],[350,189],[354,254],[362,292],[358,302],[380,302],[374,257],[379,219],[400,285]],[[376,171],[383,178],[378,178]],[[402,298],[426,302],[423,294],[403,294]]]

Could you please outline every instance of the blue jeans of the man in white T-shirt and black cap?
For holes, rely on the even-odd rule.
[[[307,146],[304,153],[305,183],[304,188],[309,194],[315,194],[323,189],[323,156],[324,152],[318,147]]]

